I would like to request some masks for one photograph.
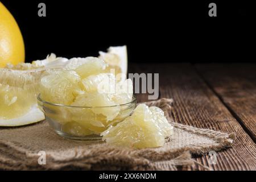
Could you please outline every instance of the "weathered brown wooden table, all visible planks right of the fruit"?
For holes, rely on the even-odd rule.
[[[234,146],[194,156],[213,170],[256,170],[256,65],[130,64],[129,73],[159,73],[159,98],[173,98],[172,118],[204,129],[236,133]],[[147,101],[147,94],[138,94]],[[195,164],[182,170],[204,170]]]

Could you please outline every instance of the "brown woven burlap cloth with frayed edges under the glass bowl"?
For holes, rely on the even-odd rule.
[[[0,169],[128,169],[176,170],[192,165],[191,154],[206,154],[230,147],[234,134],[198,129],[171,121],[171,99],[147,102],[164,110],[174,134],[163,147],[135,150],[104,142],[76,142],[59,137],[46,121],[35,125],[0,128]],[[46,164],[38,164],[38,152]]]

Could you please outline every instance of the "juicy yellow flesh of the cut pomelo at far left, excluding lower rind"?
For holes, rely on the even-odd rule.
[[[42,72],[0,69],[0,119],[19,118],[31,110],[40,75]]]

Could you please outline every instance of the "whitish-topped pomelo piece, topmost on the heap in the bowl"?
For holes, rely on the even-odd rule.
[[[65,69],[75,70],[81,78],[103,73],[106,67],[108,67],[108,64],[97,57],[72,58],[65,65]]]

